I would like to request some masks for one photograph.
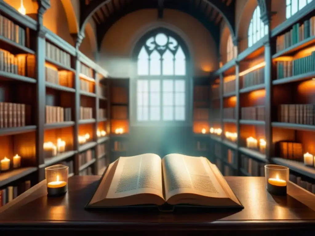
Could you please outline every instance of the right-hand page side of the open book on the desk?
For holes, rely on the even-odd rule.
[[[206,158],[169,154],[163,158],[162,163],[166,200],[183,193],[216,198],[228,197]]]

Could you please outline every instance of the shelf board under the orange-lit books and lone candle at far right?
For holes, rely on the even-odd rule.
[[[315,179],[315,168],[305,166],[303,162],[283,159],[280,157],[273,157],[271,160],[277,165],[286,166],[292,171],[295,171],[301,175],[305,175],[307,177]]]

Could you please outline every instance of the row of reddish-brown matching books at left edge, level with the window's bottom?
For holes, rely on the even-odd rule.
[[[0,102],[0,128],[30,125],[31,106]]]

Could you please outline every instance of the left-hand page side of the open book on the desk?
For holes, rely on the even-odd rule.
[[[106,198],[122,198],[135,194],[163,197],[162,163],[156,154],[120,157]]]

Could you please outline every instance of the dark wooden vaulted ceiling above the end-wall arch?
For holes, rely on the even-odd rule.
[[[109,28],[123,16],[140,10],[155,8],[157,18],[163,18],[163,9],[176,9],[199,20],[219,45],[220,24],[225,20],[232,36],[235,35],[235,0],[85,0],[81,1],[80,28],[90,17],[96,23],[97,42],[100,47]]]

